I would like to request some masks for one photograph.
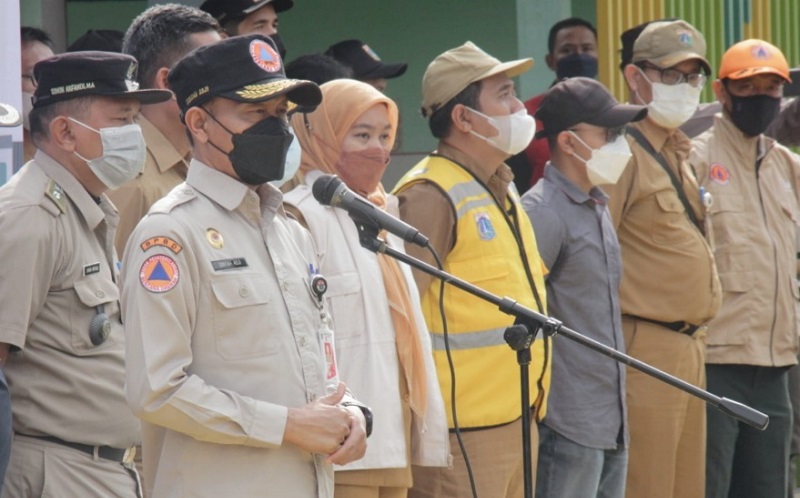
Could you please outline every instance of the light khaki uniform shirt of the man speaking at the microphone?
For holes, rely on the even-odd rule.
[[[282,200],[195,160],[131,235],[126,387],[149,496],[333,496],[325,456],[283,444],[288,408],[326,392],[329,318]]]

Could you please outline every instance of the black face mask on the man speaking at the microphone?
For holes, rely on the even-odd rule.
[[[208,111],[206,111],[208,112]],[[208,113],[214,121],[217,118]],[[283,178],[286,164],[286,151],[294,137],[286,122],[277,117],[269,117],[254,124],[242,133],[232,133],[222,123],[222,128],[231,134],[233,149],[230,152],[209,143],[223,154],[227,154],[233,171],[248,185],[261,185]]]

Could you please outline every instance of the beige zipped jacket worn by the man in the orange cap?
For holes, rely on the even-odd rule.
[[[713,198],[710,232],[723,290],[708,325],[707,362],[797,363],[800,161],[773,139],[745,136],[721,114],[694,140],[690,161]]]

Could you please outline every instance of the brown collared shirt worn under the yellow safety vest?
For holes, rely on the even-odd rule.
[[[513,185],[514,174],[508,165],[501,163],[496,170],[488,172],[486,165],[480,164],[473,157],[445,143],[439,144],[435,155],[440,155],[461,165],[481,183],[486,185],[495,199],[510,208],[508,199],[509,185]],[[397,195],[400,202],[400,214],[403,221],[410,224],[429,238],[430,246],[444,259],[455,244],[456,214],[450,199],[435,185],[421,182],[410,186]],[[413,206],[413,207],[406,207]],[[410,256],[435,265],[430,251],[409,244],[406,251]],[[433,277],[425,272],[412,268],[414,280],[420,292],[427,289]]]

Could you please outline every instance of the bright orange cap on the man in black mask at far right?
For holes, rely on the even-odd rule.
[[[777,74],[786,81],[789,77],[789,63],[778,47],[764,40],[744,40],[731,45],[722,55],[719,64],[719,78],[740,80],[757,74]]]

